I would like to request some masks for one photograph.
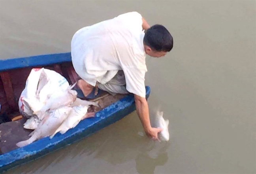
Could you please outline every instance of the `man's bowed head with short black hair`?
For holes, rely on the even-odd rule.
[[[164,26],[156,24],[146,31],[143,43],[146,54],[162,57],[173,48],[173,37]]]

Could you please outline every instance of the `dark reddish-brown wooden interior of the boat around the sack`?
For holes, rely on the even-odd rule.
[[[25,87],[26,79],[32,68],[55,70],[64,76],[70,84],[74,84],[79,80],[79,76],[76,74],[71,62],[43,67],[26,67],[0,72],[0,154],[5,154],[6,152],[17,149],[18,147],[15,144],[19,141],[28,139],[28,135],[32,131],[23,128],[26,118],[21,115],[18,106],[19,97]],[[78,87],[75,86],[74,88],[76,89]],[[125,96],[127,95],[116,94],[113,96],[107,92],[103,92],[96,99],[90,100],[98,101],[100,108],[91,106],[89,107],[88,112],[98,112]]]

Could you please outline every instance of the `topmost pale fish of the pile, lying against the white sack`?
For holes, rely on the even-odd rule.
[[[43,106],[40,111],[34,111],[34,114],[41,118],[42,113],[46,112],[47,110],[54,110],[63,106],[70,106],[77,98],[77,92],[71,90],[75,84],[69,86],[65,91],[56,91],[55,93],[51,94],[49,99],[46,101],[45,106]]]

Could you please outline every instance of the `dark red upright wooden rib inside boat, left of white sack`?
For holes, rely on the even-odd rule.
[[[8,102],[9,108],[16,110],[17,104],[15,102],[15,96],[13,93],[13,87],[11,84],[11,78],[8,72],[1,72],[0,73],[3,85],[4,85],[4,91],[6,94],[6,100]]]

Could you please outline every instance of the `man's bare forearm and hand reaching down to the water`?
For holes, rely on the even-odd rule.
[[[134,94],[136,111],[141,120],[142,126],[144,128],[147,136],[152,137],[154,140],[158,140],[158,133],[162,131],[162,128],[152,128],[149,118],[149,106],[146,98],[140,97]]]

